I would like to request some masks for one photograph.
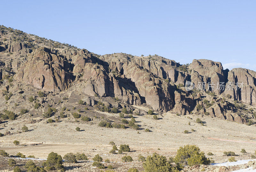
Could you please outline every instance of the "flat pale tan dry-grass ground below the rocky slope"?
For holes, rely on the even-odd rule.
[[[119,116],[118,114],[102,113],[107,117]],[[198,117],[205,122],[204,126],[195,122]],[[255,126],[209,116],[176,116],[170,112],[158,115],[159,120],[153,120],[149,115],[134,115],[134,118],[140,128],[148,128],[151,132],[139,130],[138,133],[133,129],[103,128],[95,122],[76,122],[74,119],[68,118],[62,119],[58,123],[44,123],[42,120],[38,123],[26,124],[30,130],[28,132],[1,137],[0,149],[13,155],[20,152],[27,156],[35,155],[37,158],[43,159],[47,158],[50,152],[58,153],[61,156],[69,152],[85,153],[90,161],[95,154],[100,154],[103,160],[109,159],[115,162],[114,166],[116,167],[126,164],[128,167],[136,166],[140,169],[142,169],[142,165],[137,161],[138,154],[146,157],[156,152],[166,157],[175,156],[177,149],[187,144],[197,145],[205,153],[212,152],[214,155],[211,158],[215,163],[228,160],[228,157],[223,156],[224,151],[233,151],[239,155],[236,156],[236,160],[242,160],[250,159],[251,154],[256,150],[256,141],[253,141],[256,138]],[[188,125],[188,122],[191,125]],[[5,128],[0,129],[0,132],[4,133],[12,128],[11,133],[14,133],[23,125],[24,121],[22,120],[11,121],[6,124]],[[76,127],[80,127],[81,131],[76,131]],[[191,131],[191,129],[195,131]],[[189,133],[183,133],[184,130],[188,130]],[[20,141],[20,146],[15,146],[14,140]],[[114,141],[117,148],[120,144],[128,144],[132,152],[127,154],[132,156],[134,161],[123,163],[121,161],[123,154],[110,154],[109,151],[112,149],[112,146],[108,144],[110,141]],[[42,145],[37,146],[21,146],[22,144],[30,145],[42,142]],[[243,148],[247,154],[240,152]],[[124,166],[116,168],[116,171],[122,171],[122,168]],[[79,170],[79,168],[70,170]],[[90,170],[97,169],[90,168]]]

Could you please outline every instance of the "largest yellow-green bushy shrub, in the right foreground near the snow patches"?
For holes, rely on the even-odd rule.
[[[208,165],[210,159],[205,157],[204,152],[201,152],[198,146],[186,145],[178,149],[175,162],[189,166],[196,164]]]

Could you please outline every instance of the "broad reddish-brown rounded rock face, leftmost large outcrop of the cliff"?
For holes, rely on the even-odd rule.
[[[52,54],[50,49],[40,48],[31,53],[28,61],[20,67],[15,79],[45,91],[61,91],[71,86],[75,79],[70,63]]]

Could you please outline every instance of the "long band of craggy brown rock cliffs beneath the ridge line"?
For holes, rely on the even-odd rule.
[[[99,56],[86,49],[10,30],[4,26],[0,29],[0,79],[13,76],[21,85],[47,92],[76,89],[90,96],[116,97],[130,105],[145,104],[157,111],[172,110],[182,115],[192,111],[208,112],[240,123],[246,119],[237,117],[235,110],[225,103],[196,111],[196,105],[204,106],[200,93],[196,95],[195,90],[186,91],[182,86],[191,81],[195,89],[204,86],[201,93],[225,93],[234,100],[256,103],[254,71],[237,68],[228,72],[220,62],[205,59],[180,65],[157,55]],[[235,87],[237,82],[244,83],[243,89]],[[223,84],[222,89],[219,89],[220,84]]]

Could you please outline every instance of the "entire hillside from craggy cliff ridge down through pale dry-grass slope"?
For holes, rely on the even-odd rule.
[[[0,26],[0,80],[0,147],[9,153],[17,152],[12,142],[19,140],[19,152],[28,154],[32,150],[26,146],[49,144],[48,151],[40,146],[33,150],[40,158],[51,149],[62,156],[71,150],[94,156],[108,153],[113,139],[118,145],[130,142],[138,151],[132,152],[134,157],[153,152],[170,156],[192,143],[215,150],[215,161],[221,162],[223,151],[233,147],[252,153],[256,143],[251,140],[256,138],[256,72],[224,70],[220,62],[179,64],[158,55],[97,55]],[[185,87],[189,82],[192,90]],[[27,132],[22,132],[24,125]],[[242,145],[234,148],[235,143],[211,138]],[[239,159],[249,157],[242,154]],[[132,165],[143,169],[141,163]],[[116,168],[124,170],[122,165]]]

